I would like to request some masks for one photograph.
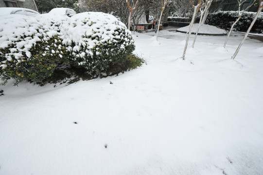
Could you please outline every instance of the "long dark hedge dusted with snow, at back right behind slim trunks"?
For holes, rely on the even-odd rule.
[[[254,12],[245,12],[242,18],[234,26],[234,31],[245,32],[250,26],[252,20],[255,17]],[[210,13],[207,18],[207,24],[219,27],[221,29],[228,30],[231,28],[232,24],[238,18],[238,11],[219,11],[215,13]],[[260,14],[256,23],[254,24],[251,32],[263,33],[263,13]]]

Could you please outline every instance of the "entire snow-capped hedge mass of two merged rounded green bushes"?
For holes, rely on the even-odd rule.
[[[85,68],[91,75],[122,65],[135,49],[131,32],[104,13],[73,16],[2,16],[0,79],[41,83],[58,65]]]

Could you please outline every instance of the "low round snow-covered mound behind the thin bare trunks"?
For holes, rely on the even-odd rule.
[[[192,34],[195,34],[198,28],[198,24],[193,24]],[[186,33],[189,31],[189,26],[181,27],[177,29],[177,32]],[[215,26],[208,24],[202,24],[200,26],[199,35],[227,35],[227,32],[223,29],[219,29]]]

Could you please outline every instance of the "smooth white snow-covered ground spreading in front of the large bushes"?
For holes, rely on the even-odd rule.
[[[0,85],[0,175],[262,175],[263,43],[153,35],[118,76]]]

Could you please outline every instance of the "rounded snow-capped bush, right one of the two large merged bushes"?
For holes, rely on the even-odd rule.
[[[86,12],[74,15],[61,28],[63,44],[75,66],[92,74],[122,64],[135,49],[131,32],[112,15]]]

